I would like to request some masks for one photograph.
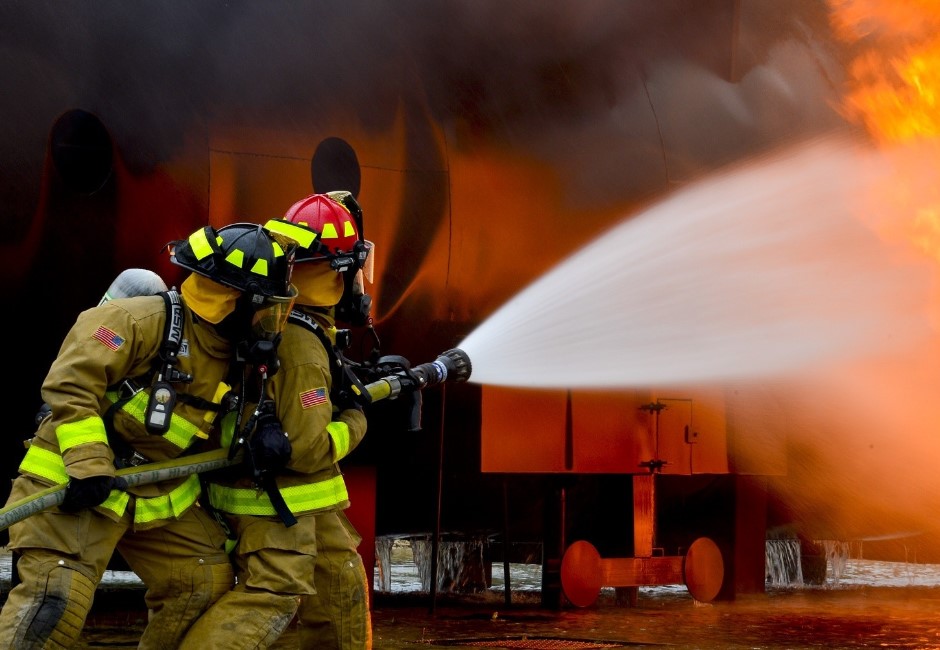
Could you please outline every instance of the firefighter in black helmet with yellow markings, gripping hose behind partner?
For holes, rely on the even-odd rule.
[[[82,312],[43,381],[49,412],[9,503],[67,488],[59,507],[10,528],[18,582],[0,613],[0,647],[72,646],[115,550],[147,587],[140,648],[178,647],[233,585],[225,533],[196,506],[197,476],[128,488],[115,469],[209,444],[222,404],[238,408],[228,387],[239,358],[267,362],[279,339],[296,294],[291,253],[254,224],[205,227],[168,250],[191,271],[180,292]]]

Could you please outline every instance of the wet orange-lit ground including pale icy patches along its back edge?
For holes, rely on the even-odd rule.
[[[0,557],[6,593],[9,567]],[[514,565],[515,567],[515,565]],[[700,603],[685,587],[642,587],[636,605],[605,589],[587,608],[541,606],[538,575],[514,568],[512,602],[494,572],[477,594],[419,591],[413,564],[392,567],[393,591],[373,601],[374,648],[937,648],[940,566],[848,560],[820,586],[773,586],[731,602]],[[3,571],[6,573],[3,573]],[[133,648],[145,623],[143,590],[106,575],[77,648]],[[133,574],[130,574],[133,576]],[[6,580],[5,580],[6,579]],[[275,648],[297,648],[290,629]]]

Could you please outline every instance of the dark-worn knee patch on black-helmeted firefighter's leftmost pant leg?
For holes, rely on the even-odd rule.
[[[95,595],[95,581],[65,565],[46,576],[45,588],[23,618],[24,646],[69,648],[81,635]]]

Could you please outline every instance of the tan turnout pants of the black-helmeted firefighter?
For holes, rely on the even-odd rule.
[[[44,485],[14,481],[9,502]],[[196,618],[231,589],[221,527],[198,507],[179,519],[134,531],[86,509],[45,510],[10,527],[19,583],[0,612],[0,647],[68,648],[81,635],[95,588],[117,549],[147,587],[150,621],[139,648],[175,649]]]

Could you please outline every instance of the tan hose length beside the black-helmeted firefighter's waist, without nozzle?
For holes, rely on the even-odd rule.
[[[147,463],[138,467],[126,467],[119,469],[115,475],[122,477],[127,481],[128,487],[135,485],[147,485],[149,483],[159,483],[160,481],[169,481],[174,478],[190,476],[191,474],[201,474],[211,472],[212,470],[230,467],[242,461],[241,454],[229,460],[227,449],[214,449],[212,451],[192,454],[191,456],[182,456],[173,460],[165,460],[159,463]],[[0,510],[0,530],[6,530],[13,524],[22,521],[34,515],[37,512],[60,505],[65,500],[66,483],[53,485],[41,492],[15,501]]]

